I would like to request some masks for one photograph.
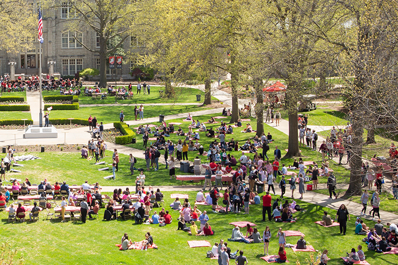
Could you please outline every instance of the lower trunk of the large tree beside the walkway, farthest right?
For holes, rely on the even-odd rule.
[[[357,104],[352,104],[354,108],[357,108]],[[352,119],[352,146],[351,146],[351,159],[350,159],[350,184],[345,197],[351,197],[353,195],[361,195],[361,166],[362,166],[362,134],[363,126],[361,122],[361,114],[358,113],[357,109],[353,110]]]

